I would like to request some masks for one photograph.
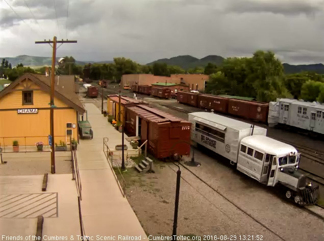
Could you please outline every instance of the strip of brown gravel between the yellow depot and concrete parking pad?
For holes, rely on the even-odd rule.
[[[55,161],[56,174],[72,173],[70,160]],[[51,173],[51,159],[44,160],[14,160],[0,165],[0,176],[27,176]]]

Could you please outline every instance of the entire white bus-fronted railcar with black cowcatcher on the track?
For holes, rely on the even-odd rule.
[[[228,158],[236,169],[267,186],[281,186],[296,204],[315,204],[318,186],[298,171],[300,154],[266,137],[266,129],[213,113],[189,114],[191,140]]]

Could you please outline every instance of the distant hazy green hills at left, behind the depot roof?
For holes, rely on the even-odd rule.
[[[56,58],[58,60],[61,57]],[[0,58],[0,62],[2,59],[8,60],[9,63],[11,63],[12,67],[15,67],[17,64],[23,64],[23,66],[32,66],[32,67],[41,67],[41,66],[51,66],[52,65],[52,58],[47,57],[37,57],[37,56],[28,56],[28,55],[19,55],[14,58]],[[112,63],[113,61],[78,61],[76,60],[77,65],[85,65],[88,63]]]

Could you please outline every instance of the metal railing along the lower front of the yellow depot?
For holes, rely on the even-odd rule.
[[[13,142],[18,143],[18,147],[13,146]],[[71,143],[70,136],[54,136],[54,141],[57,144],[61,143],[62,149],[65,147],[65,151],[67,150],[67,146]],[[42,150],[38,150],[36,143],[42,142],[43,148]],[[21,144],[22,143],[22,144]],[[48,136],[34,136],[34,137],[0,137],[0,152],[9,153],[9,152],[51,152],[51,146],[48,143]]]

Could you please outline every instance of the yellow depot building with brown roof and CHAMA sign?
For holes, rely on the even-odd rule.
[[[78,140],[79,114],[85,109],[74,89],[74,76],[55,77],[54,142]],[[48,145],[51,77],[25,73],[0,92],[0,147]]]

